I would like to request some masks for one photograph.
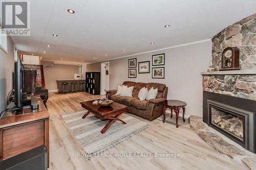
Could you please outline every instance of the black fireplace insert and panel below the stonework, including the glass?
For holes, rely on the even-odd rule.
[[[203,122],[256,153],[256,101],[203,91]]]

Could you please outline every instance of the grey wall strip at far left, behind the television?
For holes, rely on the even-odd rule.
[[[6,108],[6,98],[8,92],[12,89],[12,72],[14,70],[14,51],[13,43],[7,37],[8,54],[0,48],[0,111]]]

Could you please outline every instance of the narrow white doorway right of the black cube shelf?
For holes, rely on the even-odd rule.
[[[101,63],[100,69],[100,94],[106,94],[106,90],[110,87],[110,77],[109,77],[110,63]]]

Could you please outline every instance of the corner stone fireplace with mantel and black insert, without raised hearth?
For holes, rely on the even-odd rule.
[[[226,47],[240,50],[241,70],[220,71]],[[203,122],[256,153],[256,14],[212,38],[212,65],[202,72]]]

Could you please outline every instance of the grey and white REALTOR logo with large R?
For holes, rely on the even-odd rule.
[[[30,2],[1,1],[1,33],[11,36],[30,35]]]

